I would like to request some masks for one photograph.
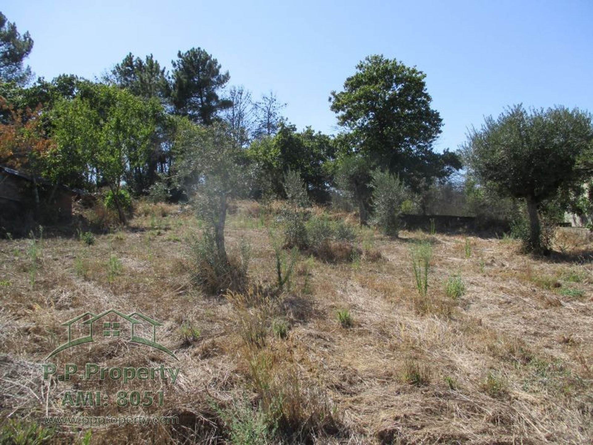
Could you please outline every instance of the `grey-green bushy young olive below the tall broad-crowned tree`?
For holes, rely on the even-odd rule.
[[[372,172],[373,220],[384,233],[397,236],[400,229],[401,204],[406,189],[397,176],[381,170]]]

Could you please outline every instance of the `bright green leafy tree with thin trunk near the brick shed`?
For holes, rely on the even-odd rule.
[[[63,182],[104,183],[119,202],[126,173],[144,164],[161,106],[113,85],[82,85],[73,99],[62,99],[53,109],[56,142],[50,171]],[[58,178],[56,178],[58,179]]]

